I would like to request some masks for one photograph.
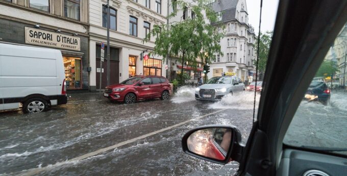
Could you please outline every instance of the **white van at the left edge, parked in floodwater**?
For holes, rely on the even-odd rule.
[[[0,110],[37,113],[66,103],[59,50],[0,43]]]

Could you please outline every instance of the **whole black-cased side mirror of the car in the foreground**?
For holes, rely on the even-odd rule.
[[[218,164],[239,161],[243,146],[235,127],[213,125],[193,129],[182,138],[183,151],[193,157]]]

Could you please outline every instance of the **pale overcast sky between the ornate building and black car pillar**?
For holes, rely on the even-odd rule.
[[[259,31],[260,0],[246,0],[249,23],[254,27],[256,34]],[[263,0],[260,31],[272,31],[278,8],[278,0]]]

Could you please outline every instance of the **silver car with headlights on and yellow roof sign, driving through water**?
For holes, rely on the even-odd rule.
[[[236,76],[213,77],[195,89],[195,99],[220,100],[227,94],[245,90],[241,79]]]

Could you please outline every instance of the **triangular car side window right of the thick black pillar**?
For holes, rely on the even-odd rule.
[[[286,145],[347,155],[346,56],[341,52],[341,43],[347,40],[339,37],[341,33],[347,33],[347,28],[341,30],[316,72],[313,80],[320,81],[312,81],[307,88],[285,135]]]

